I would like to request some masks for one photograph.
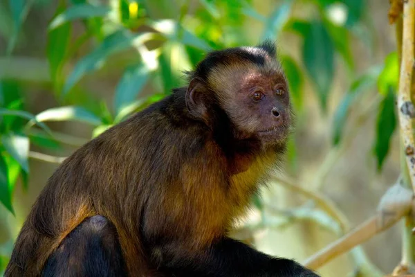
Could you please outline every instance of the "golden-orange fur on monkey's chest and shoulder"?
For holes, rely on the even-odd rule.
[[[170,228],[169,233],[185,240],[191,249],[212,243],[230,229],[235,217],[246,211],[252,194],[276,158],[275,153],[253,159],[241,157],[239,166],[243,166],[243,171],[231,174],[225,157],[218,160],[221,155],[215,152],[215,145],[207,148],[201,157],[183,164],[181,185],[169,190],[169,197],[165,197],[174,201],[163,205],[163,210],[170,213],[169,221],[172,220],[167,224],[170,227],[164,228]],[[192,169],[196,165],[199,170],[195,172]]]

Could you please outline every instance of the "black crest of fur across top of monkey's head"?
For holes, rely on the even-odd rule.
[[[269,39],[255,46],[260,50],[265,51],[270,57],[275,58],[277,55],[277,48],[275,43]],[[221,64],[231,64],[235,61],[248,61],[252,64],[264,66],[266,62],[266,55],[261,51],[250,51],[249,48],[235,47],[228,48],[221,51],[212,51],[206,55],[199,64],[197,64],[194,71],[185,71],[185,78],[190,82],[193,78],[201,78],[201,80],[208,80],[208,75],[212,69]]]

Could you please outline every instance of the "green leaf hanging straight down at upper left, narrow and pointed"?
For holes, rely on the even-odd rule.
[[[57,8],[57,14],[64,10],[64,2],[60,1]],[[63,4],[62,4],[63,3]],[[63,23],[57,28],[48,31],[48,42],[46,45],[46,53],[50,67],[50,75],[53,82],[57,82],[57,76],[64,64],[64,57],[68,52],[69,42],[71,42],[71,24]]]

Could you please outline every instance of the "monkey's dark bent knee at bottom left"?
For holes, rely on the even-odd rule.
[[[101,215],[86,218],[53,251],[42,276],[124,276],[115,226]]]

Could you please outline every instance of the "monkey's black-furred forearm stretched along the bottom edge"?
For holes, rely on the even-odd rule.
[[[165,251],[160,269],[173,276],[318,277],[293,260],[270,257],[231,238],[223,238],[192,259],[171,246],[161,249]]]

